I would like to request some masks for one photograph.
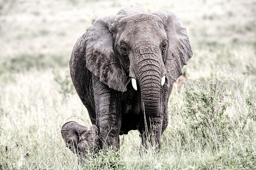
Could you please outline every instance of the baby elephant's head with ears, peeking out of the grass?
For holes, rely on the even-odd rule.
[[[99,129],[94,124],[88,128],[74,121],[67,122],[62,126],[61,135],[66,146],[80,157],[84,156],[87,151],[98,152],[100,138],[98,136]]]

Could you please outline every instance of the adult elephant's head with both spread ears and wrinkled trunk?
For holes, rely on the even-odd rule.
[[[193,52],[185,27],[167,10],[124,8],[97,19],[85,36],[86,68],[109,88],[124,92],[129,77],[142,110],[156,115],[161,86],[172,86]]]

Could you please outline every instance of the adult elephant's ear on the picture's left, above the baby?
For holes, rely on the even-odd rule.
[[[121,17],[123,16],[114,15],[94,21],[85,37],[84,47],[86,68],[109,88],[125,92],[126,74],[114,51],[112,35],[116,22]]]

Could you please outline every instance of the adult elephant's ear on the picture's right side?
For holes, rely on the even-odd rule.
[[[187,30],[180,19],[171,11],[159,10],[153,14],[158,15],[163,20],[167,33],[168,50],[164,63],[173,83],[182,75],[183,66],[193,55]]]

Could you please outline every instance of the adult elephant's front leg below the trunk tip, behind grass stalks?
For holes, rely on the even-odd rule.
[[[146,121],[145,121],[146,119]],[[148,144],[155,146],[158,150],[160,148],[160,140],[162,135],[163,116],[149,116],[141,119],[138,128],[142,146],[148,147]]]

